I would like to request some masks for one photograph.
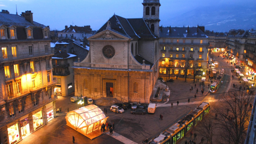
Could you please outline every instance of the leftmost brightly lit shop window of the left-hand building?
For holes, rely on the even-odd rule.
[[[7,128],[7,131],[8,131],[10,144],[13,144],[18,140],[20,140],[18,123],[9,125],[9,127]]]

